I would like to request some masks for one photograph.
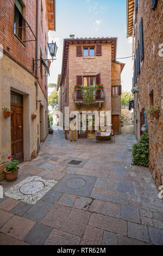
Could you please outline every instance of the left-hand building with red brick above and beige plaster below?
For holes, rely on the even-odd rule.
[[[43,59],[48,57],[48,31],[55,30],[55,0],[2,0],[0,27],[3,48],[0,58],[2,180],[7,157],[30,161],[48,134],[48,72],[45,66],[50,63]],[[12,111],[9,118],[4,117],[6,107]]]

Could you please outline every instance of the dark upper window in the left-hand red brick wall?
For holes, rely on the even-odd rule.
[[[23,41],[23,7],[17,0],[15,1],[14,11],[14,34]]]

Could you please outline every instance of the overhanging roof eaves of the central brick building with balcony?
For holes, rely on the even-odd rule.
[[[117,38],[66,38],[64,39],[64,48],[63,48],[63,56],[62,56],[62,71],[61,71],[61,80],[60,85],[65,77],[67,59],[68,59],[68,48],[69,44],[101,44],[101,43],[110,43],[111,44],[111,58],[112,60],[116,59],[117,53]]]

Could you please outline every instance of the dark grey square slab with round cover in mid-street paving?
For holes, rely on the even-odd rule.
[[[54,186],[53,191],[89,197],[95,182],[95,177],[67,174]]]

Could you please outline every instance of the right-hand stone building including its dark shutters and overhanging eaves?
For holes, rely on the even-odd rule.
[[[133,87],[139,87],[134,99],[135,136],[147,119],[149,168],[157,186],[163,185],[163,1],[127,0],[127,33],[133,36]],[[159,107],[159,116],[146,108]],[[146,114],[144,114],[146,113]]]

